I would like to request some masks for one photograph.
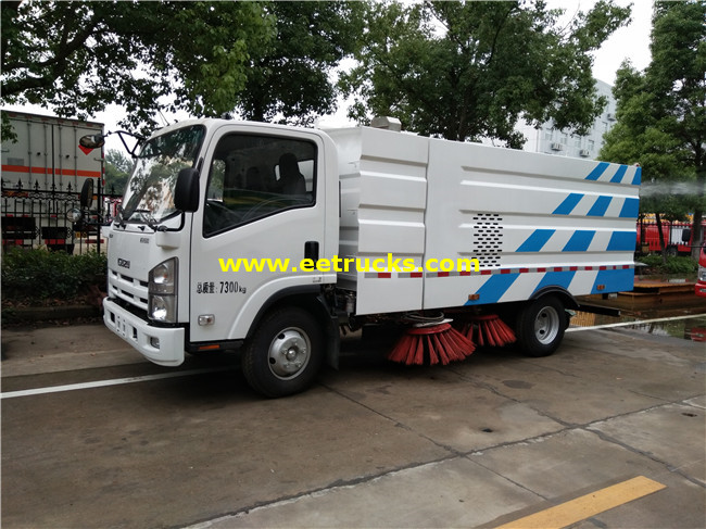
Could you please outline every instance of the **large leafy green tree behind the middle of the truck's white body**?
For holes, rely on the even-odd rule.
[[[558,27],[544,2],[374,2],[341,77],[350,115],[399,117],[407,129],[454,140],[525,142],[520,117],[579,134],[605,105],[590,52],[626,23],[629,10],[600,1]]]

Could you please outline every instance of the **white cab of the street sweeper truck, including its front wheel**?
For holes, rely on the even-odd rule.
[[[161,129],[138,154],[109,230],[106,326],[176,366],[185,352],[237,349],[261,323],[283,320],[282,307],[299,308],[270,331],[285,337],[270,367],[251,369],[266,368],[276,391],[265,393],[299,386],[322,362],[312,342],[326,338],[302,318],[325,311],[317,298],[336,274],[298,264],[337,251],[336,175],[336,149],[319,130],[223,119]]]

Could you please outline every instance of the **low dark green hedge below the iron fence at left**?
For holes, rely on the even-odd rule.
[[[97,278],[104,282],[106,257],[98,252],[68,255],[65,252],[12,249],[2,256],[3,300],[42,302],[70,299]]]

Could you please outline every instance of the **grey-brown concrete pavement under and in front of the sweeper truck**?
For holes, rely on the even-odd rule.
[[[2,349],[3,392],[164,371],[101,326]],[[589,330],[406,368],[353,342],[341,364],[277,401],[237,371],[3,399],[3,527],[496,527],[635,476],[666,488],[572,527],[706,524],[703,343]]]

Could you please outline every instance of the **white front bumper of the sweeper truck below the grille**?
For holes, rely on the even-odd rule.
[[[186,333],[182,327],[153,327],[110,298],[103,300],[103,323],[150,362],[163,366],[184,363]]]

